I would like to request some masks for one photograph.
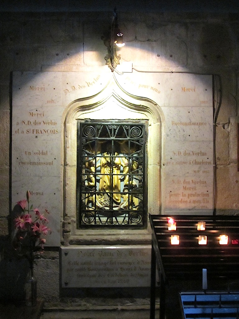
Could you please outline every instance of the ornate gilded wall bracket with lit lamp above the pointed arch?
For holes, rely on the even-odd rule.
[[[116,8],[114,8],[110,32],[106,36],[102,36],[101,39],[108,49],[108,54],[105,56],[105,64],[108,65],[113,72],[117,65],[120,64],[120,55],[117,54],[117,47],[121,48],[125,45],[123,33],[118,26],[118,14]]]

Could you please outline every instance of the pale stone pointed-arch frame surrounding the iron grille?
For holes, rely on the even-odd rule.
[[[76,158],[77,120],[144,120],[148,122],[146,143],[148,192],[147,215],[161,211],[161,162],[162,162],[161,108],[151,100],[125,93],[112,80],[95,96],[72,101],[64,114],[63,169],[63,242],[65,244],[97,243],[120,244],[150,243],[151,231],[145,229],[77,229],[76,217]],[[148,220],[148,218],[147,218]]]

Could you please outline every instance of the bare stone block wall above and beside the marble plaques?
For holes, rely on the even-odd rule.
[[[112,12],[2,12],[0,14],[0,297],[11,287],[19,266],[8,240],[11,211],[11,72],[88,72],[104,67],[101,36]],[[120,12],[126,46],[121,61],[138,71],[213,74],[216,108],[214,208],[238,214],[237,171],[239,16],[207,13]],[[105,66],[107,68],[107,66]],[[8,272],[4,271],[9,269]],[[58,249],[38,262],[39,295],[57,303]],[[47,289],[46,289],[47,286]],[[7,289],[8,288],[8,289]],[[14,296],[15,297],[15,296]]]

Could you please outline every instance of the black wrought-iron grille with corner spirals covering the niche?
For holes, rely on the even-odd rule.
[[[145,226],[146,122],[77,122],[78,227]]]

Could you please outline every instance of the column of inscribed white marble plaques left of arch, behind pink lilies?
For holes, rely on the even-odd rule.
[[[31,193],[47,209],[48,246],[60,246],[61,72],[14,72],[12,107],[12,208]]]

